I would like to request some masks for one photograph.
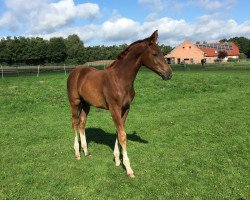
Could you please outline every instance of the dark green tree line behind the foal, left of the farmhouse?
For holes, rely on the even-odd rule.
[[[67,38],[53,37],[7,37],[0,40],[0,64],[41,65],[41,64],[83,64],[96,60],[113,60],[128,45],[84,47],[78,35]],[[171,46],[160,45],[163,54]]]

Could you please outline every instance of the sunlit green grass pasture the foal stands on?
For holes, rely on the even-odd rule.
[[[250,199],[250,71],[142,70],[126,122],[136,178],[115,167],[108,111],[74,158],[63,73],[0,80],[0,199]]]

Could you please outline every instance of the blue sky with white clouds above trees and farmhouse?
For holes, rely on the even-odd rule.
[[[0,0],[0,38],[67,37],[85,46],[130,43],[158,29],[159,42],[250,38],[248,0]]]

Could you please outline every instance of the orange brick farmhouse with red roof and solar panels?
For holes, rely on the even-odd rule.
[[[216,42],[216,43],[196,43],[193,44],[185,40],[179,46],[174,48],[169,54],[165,56],[168,63],[187,63],[197,64],[205,59],[207,63],[213,63],[217,60],[218,52],[226,51],[228,58],[239,58],[239,48],[233,42]]]

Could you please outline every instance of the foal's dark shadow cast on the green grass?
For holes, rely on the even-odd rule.
[[[115,133],[107,133],[100,128],[86,128],[86,137],[87,142],[104,144],[109,146],[112,150],[115,146],[116,134]],[[127,139],[139,143],[148,143],[147,140],[142,139],[136,132],[132,134],[127,134]]]

